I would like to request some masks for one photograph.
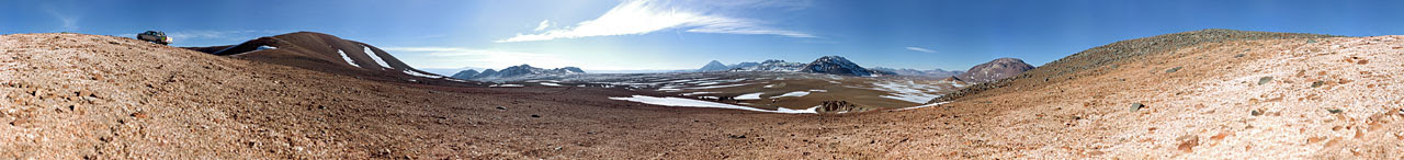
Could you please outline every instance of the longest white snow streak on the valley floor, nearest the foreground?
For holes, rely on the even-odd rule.
[[[667,105],[667,107],[727,108],[727,109],[746,109],[746,111],[778,112],[778,114],[816,114],[816,109],[817,109],[817,108],[809,108],[809,109],[778,108],[775,111],[769,111],[769,109],[760,109],[760,108],[751,108],[751,107],[741,107],[741,105],[731,105],[731,104],[722,104],[722,102],[712,102],[712,101],[702,101],[702,100],[677,98],[677,97],[649,97],[649,95],[609,97],[609,100],[623,100],[623,101],[635,101],[635,102],[653,104],[653,105]]]

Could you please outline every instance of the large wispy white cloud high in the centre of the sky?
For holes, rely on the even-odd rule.
[[[719,10],[726,10],[726,7],[746,6],[746,4],[768,4],[765,1],[748,1],[748,3],[722,3],[715,4],[720,7],[694,7],[687,8],[682,6],[673,6],[671,1],[656,1],[656,0],[628,0],[615,6],[609,11],[605,11],[595,20],[583,21],[574,27],[566,27],[559,29],[550,29],[541,34],[517,34],[507,39],[500,39],[494,42],[525,42],[525,41],[549,41],[549,39],[569,39],[569,38],[585,38],[585,36],[608,36],[608,35],[642,35],[661,29],[685,29],[687,32],[708,32],[708,34],[744,34],[744,35],[781,35],[792,38],[816,38],[814,35],[788,31],[772,27],[765,27],[762,21],[744,20],[719,15]],[[542,21],[546,24],[548,21]],[[545,29],[543,25],[538,25],[538,29]]]

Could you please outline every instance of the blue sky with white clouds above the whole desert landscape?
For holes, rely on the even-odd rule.
[[[1398,8],[1391,0],[4,0],[0,34],[160,29],[176,46],[211,46],[316,31],[427,69],[674,70],[840,55],[869,67],[965,70],[1205,28],[1398,35]]]

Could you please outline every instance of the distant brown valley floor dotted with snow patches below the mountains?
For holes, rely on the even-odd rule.
[[[802,72],[705,72],[571,74],[546,80],[512,81],[521,86],[616,87],[637,93],[716,101],[760,109],[807,109],[824,101],[845,101],[855,109],[890,109],[922,105],[967,83],[935,77],[855,77]]]

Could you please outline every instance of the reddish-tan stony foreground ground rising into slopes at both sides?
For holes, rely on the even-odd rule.
[[[1404,159],[1398,35],[1202,42],[842,115],[388,83],[101,35],[0,52],[0,157]]]

